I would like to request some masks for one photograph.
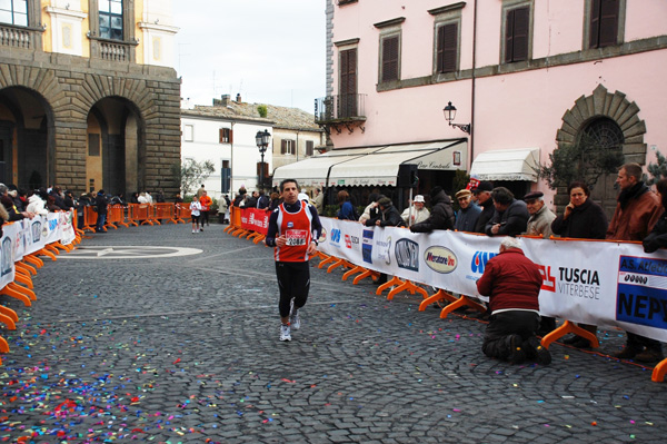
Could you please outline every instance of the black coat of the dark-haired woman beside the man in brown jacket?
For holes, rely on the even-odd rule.
[[[551,223],[551,230],[560,237],[604,239],[607,225],[607,216],[603,207],[588,198],[584,204],[573,208],[567,219],[564,219],[563,215],[556,217]]]

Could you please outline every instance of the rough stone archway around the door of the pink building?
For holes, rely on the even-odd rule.
[[[556,141],[561,147],[587,139],[597,149],[606,150],[610,157],[620,152],[623,164],[644,165],[645,134],[646,124],[639,118],[637,103],[630,102],[620,91],[608,92],[604,86],[598,85],[590,96],[579,97],[575,106],[565,112]],[[591,191],[591,198],[605,208],[609,218],[614,214],[618,196],[615,180],[616,174],[601,176]],[[561,211],[569,197],[566,196],[565,188],[558,188],[555,203]]]

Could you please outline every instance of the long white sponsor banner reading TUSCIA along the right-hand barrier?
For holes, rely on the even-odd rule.
[[[327,255],[487,300],[476,283],[498,254],[501,237],[320,219],[319,249]],[[521,238],[521,245],[544,276],[544,315],[667,342],[667,250],[646,254],[638,244],[535,238]]]

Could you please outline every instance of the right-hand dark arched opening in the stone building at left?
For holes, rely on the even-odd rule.
[[[107,97],[88,114],[88,191],[128,195],[143,188],[143,120],[131,101]]]

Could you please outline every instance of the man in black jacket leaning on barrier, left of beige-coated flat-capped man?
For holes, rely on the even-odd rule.
[[[494,218],[486,225],[489,236],[518,236],[526,233],[530,214],[524,200],[514,198],[511,191],[505,187],[494,188]]]

